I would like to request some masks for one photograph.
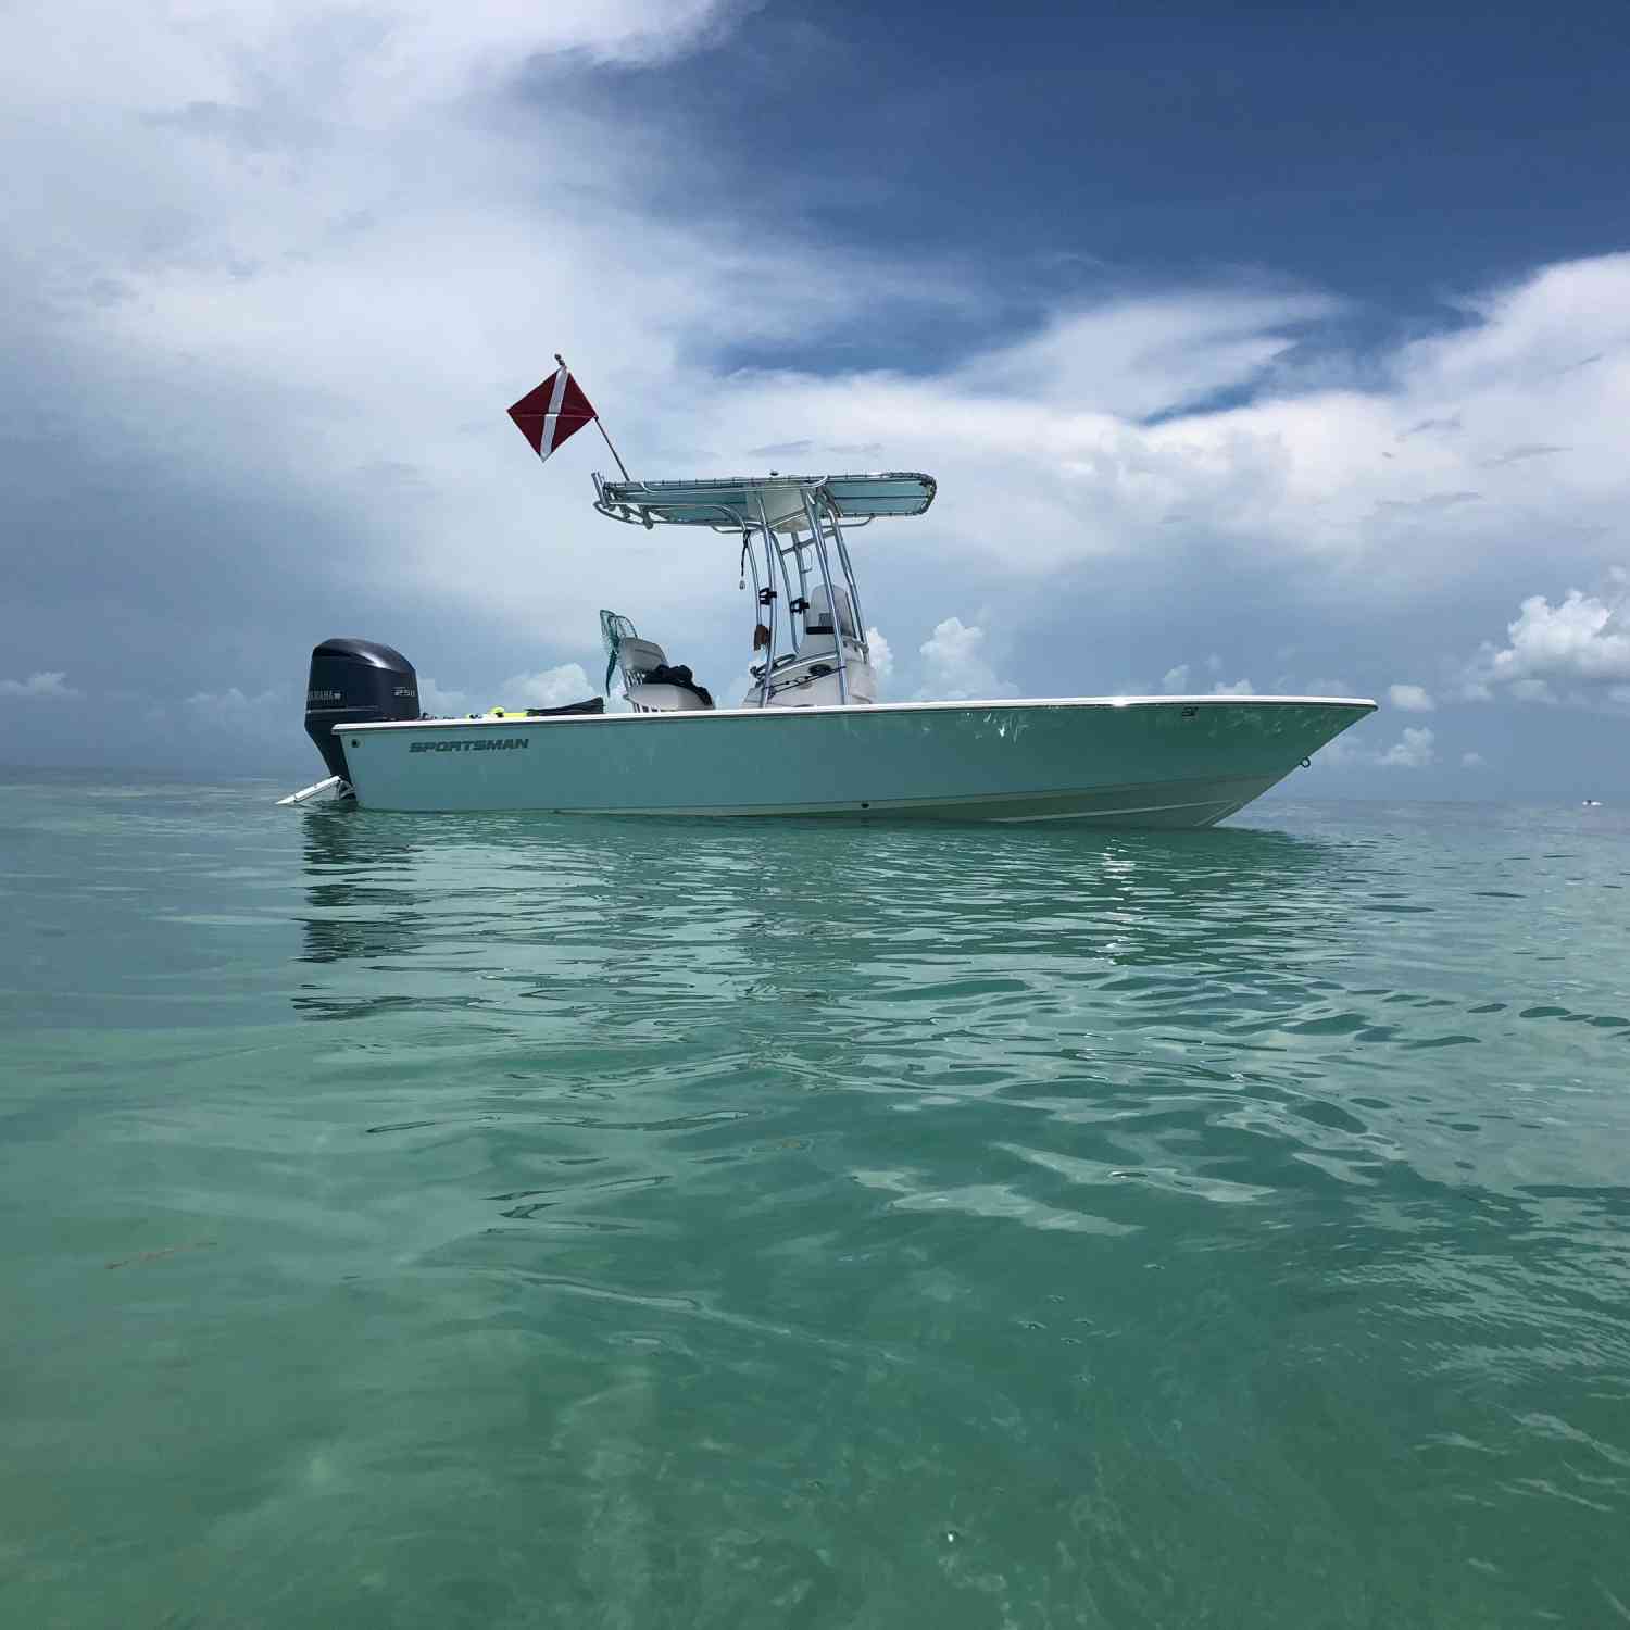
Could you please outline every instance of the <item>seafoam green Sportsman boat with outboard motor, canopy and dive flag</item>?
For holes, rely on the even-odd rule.
[[[510,409],[540,456],[554,450],[562,399],[567,409],[574,399],[562,398],[566,373],[562,362]],[[520,409],[551,383],[554,412],[540,408],[523,422]],[[932,476],[634,481],[621,469],[593,484],[595,509],[611,522],[729,540],[720,553],[738,567],[738,585],[753,587],[747,693],[716,703],[689,667],[613,611],[600,616],[605,689],[621,678],[626,711],[606,711],[595,696],[562,709],[432,719],[398,650],[324,641],[311,655],[305,725],[329,776],[282,802],[1211,826],[1376,707],[1332,696],[885,701],[849,538],[924,515]]]

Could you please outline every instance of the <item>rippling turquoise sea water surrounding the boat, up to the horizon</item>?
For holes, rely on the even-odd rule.
[[[0,784],[0,1622],[1630,1620],[1630,823]]]

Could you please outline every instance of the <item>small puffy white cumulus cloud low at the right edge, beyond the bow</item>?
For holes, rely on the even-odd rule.
[[[1490,701],[1601,706],[1630,691],[1630,572],[1615,567],[1599,593],[1570,588],[1552,605],[1529,595],[1506,624],[1506,644],[1485,641],[1460,673],[1462,693]]]

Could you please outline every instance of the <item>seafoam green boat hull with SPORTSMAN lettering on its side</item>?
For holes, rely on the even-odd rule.
[[[1209,826],[1374,703],[1094,698],[448,719],[344,732],[386,810]]]

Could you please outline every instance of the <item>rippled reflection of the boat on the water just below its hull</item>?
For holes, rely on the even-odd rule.
[[[911,985],[923,968],[1009,952],[1046,958],[1048,985],[1081,980],[1084,958],[1104,971],[1170,968],[1236,949],[1283,970],[1293,944],[1319,949],[1340,870],[1340,851],[1317,839],[1249,826],[880,825],[839,836],[823,820],[659,828],[455,813],[425,825],[341,804],[308,812],[303,828],[302,960],[355,965],[297,996],[318,1017],[399,1007],[417,991],[427,1007],[597,1004],[601,1024],[623,998],[804,989],[815,937],[830,994],[883,999],[896,976]],[[1167,898],[1182,910],[1151,910]],[[898,965],[875,960],[918,941],[931,944]],[[460,980],[465,963],[479,978]],[[430,988],[388,976],[427,967],[445,975]],[[800,1006],[797,1024],[817,1038],[822,1004]]]

